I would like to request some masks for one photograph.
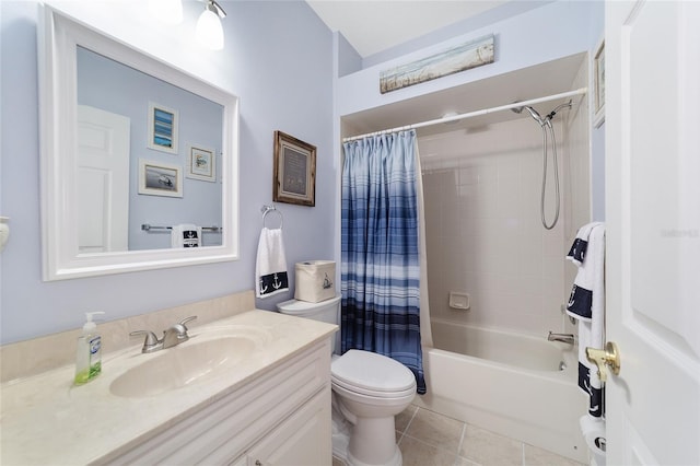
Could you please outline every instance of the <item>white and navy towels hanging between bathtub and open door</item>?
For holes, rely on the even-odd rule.
[[[604,415],[604,387],[597,366],[586,358],[586,347],[605,346],[605,225],[587,224],[579,230],[572,249],[583,243],[583,260],[574,279],[567,314],[579,319],[579,386],[591,397],[588,413]],[[569,258],[569,256],[568,256]],[[576,264],[576,260],[572,260]]]

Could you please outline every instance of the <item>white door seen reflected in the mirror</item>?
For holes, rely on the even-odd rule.
[[[130,119],[78,106],[78,249],[127,251]]]

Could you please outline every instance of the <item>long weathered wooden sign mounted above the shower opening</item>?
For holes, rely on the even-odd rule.
[[[493,62],[493,35],[380,73],[382,94]]]

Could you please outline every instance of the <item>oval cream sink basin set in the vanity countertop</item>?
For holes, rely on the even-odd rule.
[[[109,385],[113,395],[130,398],[160,395],[220,374],[243,361],[268,339],[255,327],[220,327],[191,336],[152,354]]]

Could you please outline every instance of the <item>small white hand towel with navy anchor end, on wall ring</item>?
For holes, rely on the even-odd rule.
[[[282,229],[264,228],[255,264],[255,294],[267,298],[289,290]]]

